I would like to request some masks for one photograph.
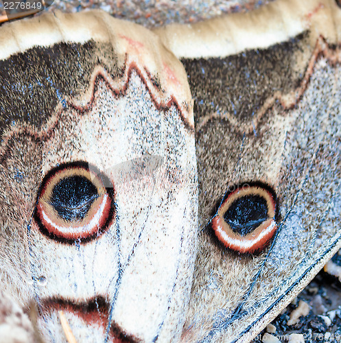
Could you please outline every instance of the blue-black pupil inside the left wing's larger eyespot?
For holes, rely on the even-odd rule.
[[[98,196],[90,180],[84,176],[69,176],[54,186],[49,202],[64,220],[82,220]]]

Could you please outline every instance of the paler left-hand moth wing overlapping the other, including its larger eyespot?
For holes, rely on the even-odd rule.
[[[65,341],[60,310],[78,342],[178,340],[198,220],[183,65],[100,11],[0,32],[3,294],[36,304],[44,342]]]

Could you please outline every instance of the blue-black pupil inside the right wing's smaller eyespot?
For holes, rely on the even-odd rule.
[[[268,219],[268,206],[262,196],[243,196],[236,199],[224,213],[232,230],[246,236]]]

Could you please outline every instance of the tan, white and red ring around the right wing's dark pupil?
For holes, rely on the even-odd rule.
[[[224,213],[233,201],[246,195],[258,195],[266,199],[268,207],[268,219],[262,222],[248,235],[242,236],[232,230],[231,226],[224,220]],[[212,228],[217,238],[231,250],[241,253],[254,253],[263,250],[274,236],[277,230],[275,220],[277,203],[272,192],[259,185],[238,187],[228,194],[226,200],[220,205],[216,215],[212,219]]]

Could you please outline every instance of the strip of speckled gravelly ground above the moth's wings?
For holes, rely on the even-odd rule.
[[[0,13],[5,14],[0,0]],[[14,0],[19,1],[19,0]],[[33,2],[37,0],[27,0]],[[39,1],[39,0],[38,0]],[[51,1],[51,0],[45,0]],[[269,0],[55,0],[48,10],[78,12],[84,9],[102,8],[116,18],[128,19],[155,27],[168,23],[189,23],[212,18],[224,13],[242,12],[257,8]]]

